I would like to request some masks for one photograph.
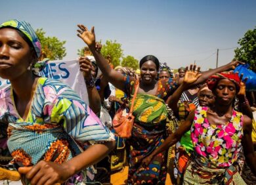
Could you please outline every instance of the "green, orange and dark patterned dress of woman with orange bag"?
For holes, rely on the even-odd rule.
[[[135,91],[135,79],[125,77],[125,93],[127,96]],[[142,167],[141,161],[158,148],[166,137],[167,110],[163,98],[167,98],[176,88],[176,83],[158,81],[156,96],[137,94],[133,115],[132,136],[129,138],[129,175],[128,184],[165,183],[166,157],[165,152],[156,155],[148,167]]]

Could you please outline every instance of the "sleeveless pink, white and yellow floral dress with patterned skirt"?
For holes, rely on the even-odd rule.
[[[233,166],[243,136],[243,114],[233,110],[226,125],[211,125],[207,110],[198,107],[195,112],[191,127],[195,154],[186,168],[184,184],[245,184]]]

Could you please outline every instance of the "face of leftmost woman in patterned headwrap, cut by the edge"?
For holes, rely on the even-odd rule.
[[[3,79],[16,79],[28,72],[33,61],[30,46],[11,28],[0,29],[0,76]]]

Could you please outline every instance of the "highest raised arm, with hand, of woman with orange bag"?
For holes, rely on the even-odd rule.
[[[117,89],[121,89],[124,91],[124,82],[123,75],[121,73],[117,73],[113,70],[106,59],[98,52],[95,48],[95,30],[94,27],[89,31],[82,24],[77,25],[79,30],[77,30],[77,36],[80,37],[89,47],[90,51],[95,56],[96,63],[98,68],[100,68],[103,75],[112,83]]]

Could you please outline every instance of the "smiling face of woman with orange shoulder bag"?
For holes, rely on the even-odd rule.
[[[156,76],[158,75],[158,72],[156,70],[156,64],[151,60],[144,62],[144,64],[142,64],[140,68],[140,75],[141,80],[144,83],[152,83],[156,79]]]

